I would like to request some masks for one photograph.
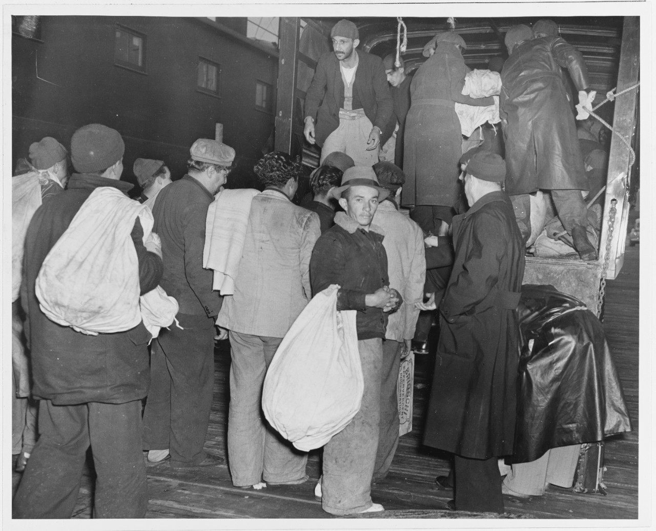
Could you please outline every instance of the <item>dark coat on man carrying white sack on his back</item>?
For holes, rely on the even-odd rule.
[[[91,192],[111,186],[126,193],[132,184],[98,175],[74,174],[68,188],[43,202],[30,222],[25,238],[21,299],[26,312],[25,335],[30,347],[33,394],[53,404],[84,402],[123,404],[148,393],[150,332],[143,322],[124,332],[85,335],[49,320],[39,308],[35,280],[52,247],[64,234]],[[139,218],[131,236],[139,265],[142,295],[157,287],[161,259],[144,247]]]

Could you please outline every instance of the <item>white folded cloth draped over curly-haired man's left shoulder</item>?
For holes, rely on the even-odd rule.
[[[203,267],[214,270],[212,289],[234,295],[248,217],[258,190],[223,190],[207,209]]]

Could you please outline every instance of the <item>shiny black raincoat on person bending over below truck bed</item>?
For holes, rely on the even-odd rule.
[[[517,429],[512,461],[631,431],[604,327],[553,286],[522,286]]]

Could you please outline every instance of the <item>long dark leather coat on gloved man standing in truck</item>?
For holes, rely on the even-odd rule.
[[[506,143],[506,192],[588,190],[560,67],[577,90],[590,85],[583,56],[561,37],[515,47],[501,71],[499,114]]]

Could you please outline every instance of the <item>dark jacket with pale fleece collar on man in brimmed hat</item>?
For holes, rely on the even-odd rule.
[[[389,286],[387,254],[382,246],[384,231],[372,224],[363,230],[344,212],[335,215],[335,225],[319,236],[310,259],[312,294],[339,284],[338,310],[358,310],[358,339],[384,339],[387,314],[365,305],[365,295]]]

